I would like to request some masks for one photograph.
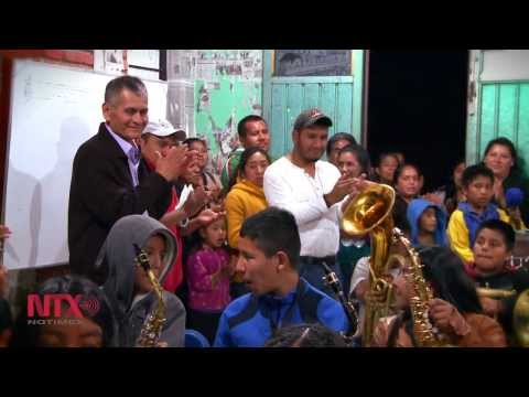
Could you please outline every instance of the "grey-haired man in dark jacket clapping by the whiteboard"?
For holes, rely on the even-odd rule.
[[[120,217],[148,213],[160,218],[171,200],[171,182],[186,167],[185,147],[171,148],[150,172],[140,161],[134,140],[148,122],[143,83],[121,76],[105,90],[98,133],[75,154],[68,206],[68,248],[73,273],[102,281],[95,260],[110,228]]]

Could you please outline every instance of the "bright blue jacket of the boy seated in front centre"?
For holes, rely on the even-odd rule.
[[[247,293],[233,301],[220,316],[214,346],[262,347],[274,325],[315,322],[337,332],[349,326],[341,303],[300,278],[296,289],[285,297]]]

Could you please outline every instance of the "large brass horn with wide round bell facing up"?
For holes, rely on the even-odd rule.
[[[389,246],[393,233],[391,210],[395,190],[386,184],[373,184],[358,194],[344,211],[342,229],[353,236],[370,234],[369,291],[385,297],[382,303],[366,299],[363,345],[369,346],[378,320],[389,314],[391,285],[384,279],[389,267]]]

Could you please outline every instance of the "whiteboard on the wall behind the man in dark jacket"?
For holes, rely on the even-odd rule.
[[[73,159],[104,121],[105,87],[115,77],[32,61],[14,63],[2,214],[12,232],[3,254],[8,269],[68,261]],[[144,83],[150,118],[164,118],[166,83]]]

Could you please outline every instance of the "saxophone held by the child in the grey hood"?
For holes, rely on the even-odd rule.
[[[136,341],[136,345],[140,347],[156,347],[163,325],[166,321],[165,303],[163,302],[163,289],[151,269],[147,253],[137,244],[134,244],[134,250],[137,255],[136,260],[145,270],[149,281],[151,281],[154,293],[158,298],[156,308],[147,316],[145,322],[141,328],[140,335]]]

